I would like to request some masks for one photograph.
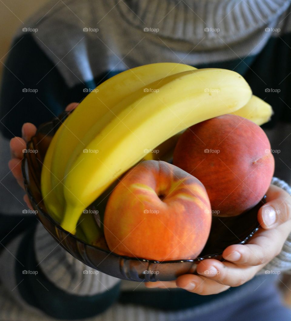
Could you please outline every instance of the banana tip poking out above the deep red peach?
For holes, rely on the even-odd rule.
[[[252,98],[246,105],[244,105],[244,107],[231,114],[247,118],[261,126],[270,120],[273,110],[272,107],[264,100],[252,95]]]

